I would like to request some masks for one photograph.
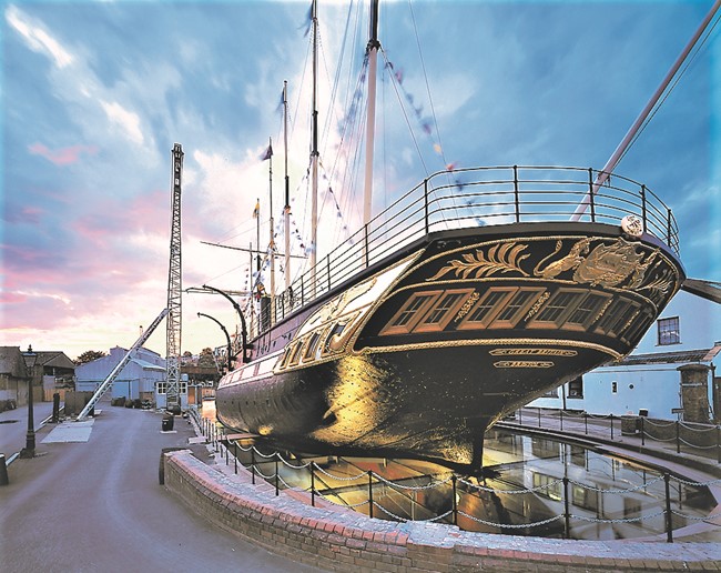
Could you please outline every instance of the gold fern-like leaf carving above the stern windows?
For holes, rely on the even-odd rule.
[[[520,268],[520,262],[530,257],[528,253],[521,254],[527,248],[527,244],[496,243],[487,252],[484,252],[481,249],[476,249],[475,254],[461,254],[463,260],[455,259],[450,261],[436,274],[426,280],[435,281],[449,272],[463,279],[468,279],[469,277],[480,279],[481,277],[508,272],[517,272],[521,277],[528,277],[528,273]]]

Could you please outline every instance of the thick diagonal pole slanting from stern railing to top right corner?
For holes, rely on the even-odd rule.
[[[695,42],[699,41],[699,38],[701,38],[701,34],[705,30],[707,26],[709,26],[709,22],[713,19],[715,16],[717,11],[719,10],[719,7],[721,7],[721,0],[715,0],[713,2],[713,6],[711,7],[711,10],[709,10],[709,13],[705,16],[699,28],[697,29],[693,37],[689,40],[689,43],[687,43],[686,48],[683,48],[683,51],[679,54],[677,58],[676,62],[669,70],[669,72],[666,74],[666,78],[663,78],[663,81],[661,84],[658,87],[653,96],[651,96],[651,99],[649,102],[646,104],[646,108],[641,111],[639,117],[636,119],[633,124],[629,128],[628,132],[626,133],[626,137],[623,140],[618,144],[616,148],[616,151],[613,151],[613,154],[610,157],[610,159],[606,162],[606,165],[603,165],[603,169],[598,173],[596,177],[596,181],[593,181],[593,187],[591,188],[590,192],[586,193],[581,202],[578,204],[576,208],[576,211],[571,215],[571,221],[578,221],[581,215],[586,212],[588,209],[589,203],[591,202],[591,194],[596,194],[598,192],[598,189],[603,184],[603,182],[609,178],[609,175],[613,172],[616,167],[618,165],[619,161],[621,161],[621,158],[628,150],[628,147],[631,144],[631,141],[633,141],[633,138],[638,133],[638,130],[641,128],[646,119],[649,117],[649,113],[653,110],[656,104],[658,103],[659,99],[666,91],[666,89],[669,87],[669,83],[671,83],[671,80],[676,76],[676,73],[679,71],[679,68],[683,64],[686,59],[688,58],[689,53],[695,46]]]

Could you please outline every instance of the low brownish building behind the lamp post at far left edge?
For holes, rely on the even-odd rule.
[[[19,346],[0,346],[0,412],[28,403],[28,381],[33,400],[50,401],[57,391],[72,388],[75,364],[61,351],[39,351],[28,371]]]

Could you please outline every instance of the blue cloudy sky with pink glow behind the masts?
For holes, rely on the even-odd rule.
[[[410,117],[413,139],[390,104],[379,112],[383,174],[374,208],[448,163],[601,169],[711,3],[383,3],[385,57],[434,131],[427,137],[427,120]],[[283,207],[284,80],[293,252],[307,253],[309,1],[1,7],[0,345],[32,344],[73,359],[129,348],[165,308],[176,142],[185,153],[183,288],[247,289],[250,255],[205,243],[256,245],[260,221],[267,245],[268,167],[275,223]],[[334,190],[321,199],[322,220],[334,230],[321,235],[318,255],[357,224],[360,209],[338,167],[353,158],[334,159],[343,102],[355,88],[344,71],[334,91],[336,61],[343,54],[357,63],[366,42],[364,36],[343,42],[346,20],[356,18],[347,18],[347,8],[335,1],[318,9],[318,109],[331,108],[319,120],[321,161]],[[687,274],[713,281],[721,281],[720,61],[714,30],[616,170],[673,210]],[[394,88],[384,81],[378,90],[380,107]],[[268,138],[272,163],[260,159]],[[184,293],[183,351],[224,344],[222,331],[199,312],[236,326],[224,299]],[[164,324],[145,346],[164,355]]]

